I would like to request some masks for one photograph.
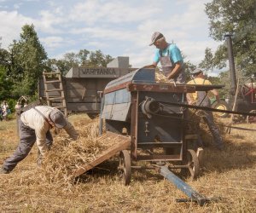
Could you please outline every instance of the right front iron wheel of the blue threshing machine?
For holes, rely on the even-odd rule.
[[[189,165],[189,173],[192,180],[199,176],[199,160],[193,149],[188,149],[187,160]]]

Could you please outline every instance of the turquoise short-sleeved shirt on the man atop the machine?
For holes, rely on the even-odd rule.
[[[162,56],[167,56],[168,55],[168,49],[169,49],[169,55],[170,59],[173,64],[177,63],[177,61],[181,62],[183,64],[183,57],[181,55],[180,50],[177,48],[176,44],[171,43],[166,47],[166,49],[160,50],[156,49],[154,53],[154,59],[153,61],[155,63],[158,63],[160,61],[160,51],[162,51]]]

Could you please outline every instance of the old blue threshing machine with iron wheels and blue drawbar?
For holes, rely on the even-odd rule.
[[[130,183],[131,170],[155,169],[186,193],[189,200],[202,205],[208,199],[170,171],[188,171],[193,179],[200,171],[196,137],[185,134],[187,110],[178,105],[185,103],[188,92],[218,87],[155,83],[154,75],[154,69],[138,69],[111,81],[103,92],[101,118],[107,132],[131,138],[131,150],[119,153],[123,181],[125,185]],[[137,164],[139,161],[145,164]]]

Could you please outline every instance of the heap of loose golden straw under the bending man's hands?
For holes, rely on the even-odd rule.
[[[81,120],[74,125],[80,135],[77,141],[69,139],[65,130],[55,136],[51,151],[45,157],[42,165],[41,178],[44,180],[68,183],[73,180],[74,170],[92,162],[103,151],[114,145],[114,141],[97,140],[97,118],[91,122]]]

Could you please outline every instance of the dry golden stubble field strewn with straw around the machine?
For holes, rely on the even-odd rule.
[[[79,125],[90,123],[86,115],[69,119]],[[227,124],[228,120],[221,122]],[[0,123],[0,164],[17,145],[15,124],[15,120]],[[256,130],[256,124],[236,126]],[[53,181],[37,168],[34,146],[12,173],[0,175],[0,212],[256,212],[256,131],[222,132],[224,151],[209,144],[204,150],[201,176],[196,181],[185,180],[207,197],[220,197],[218,203],[203,207],[177,203],[175,199],[186,196],[152,170],[132,171],[131,185],[125,187],[117,175],[117,158],[75,184]],[[61,151],[58,154],[64,155]]]

